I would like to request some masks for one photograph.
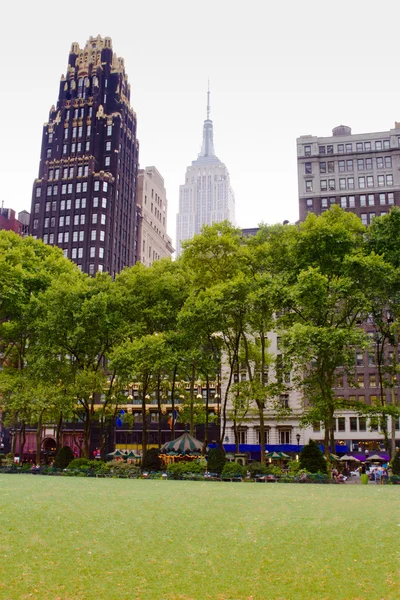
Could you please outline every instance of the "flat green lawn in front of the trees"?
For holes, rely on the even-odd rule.
[[[0,598],[400,597],[400,487],[0,475]]]

